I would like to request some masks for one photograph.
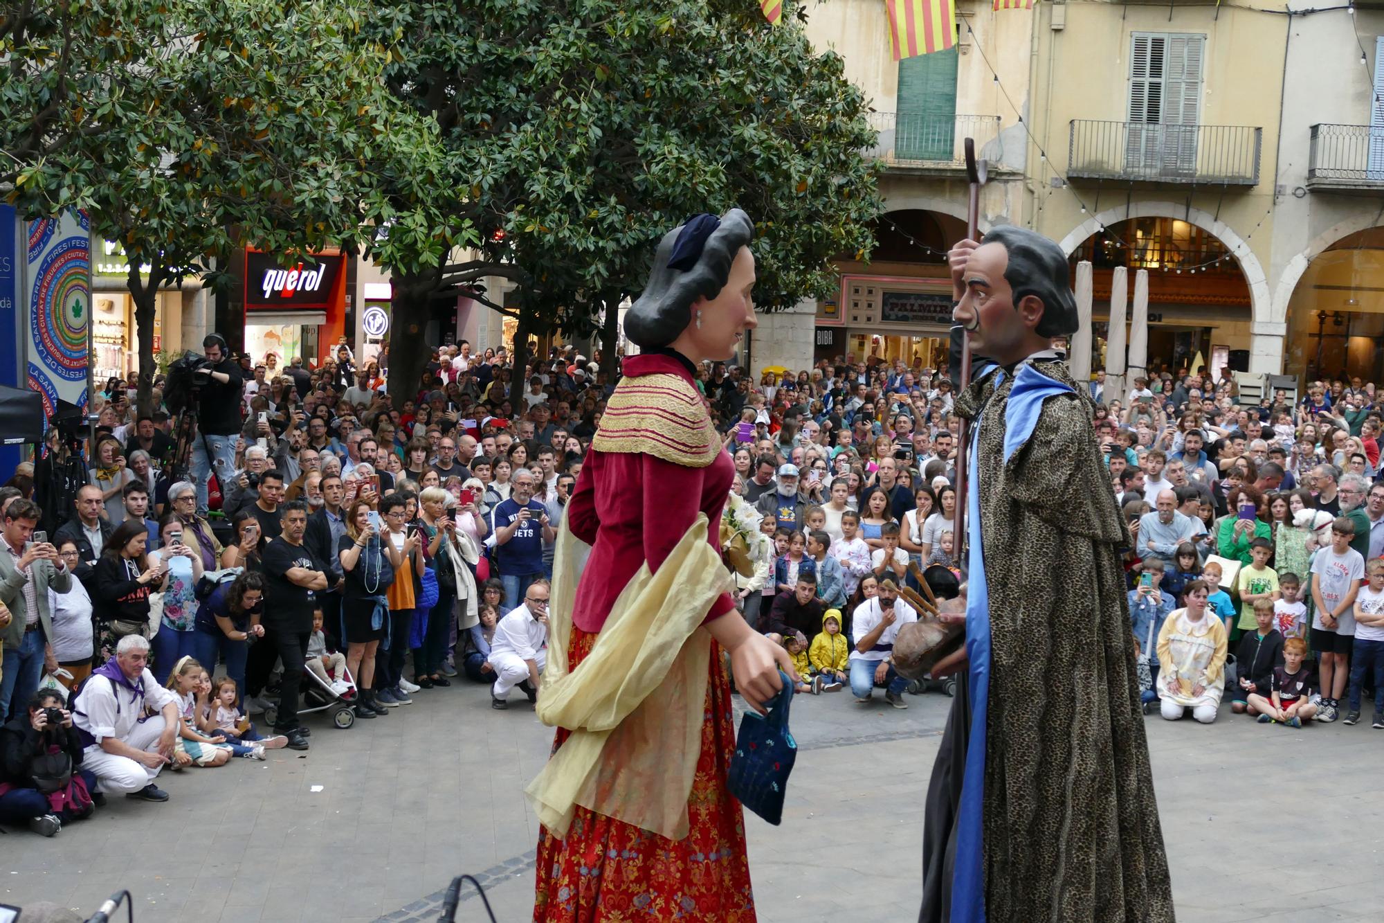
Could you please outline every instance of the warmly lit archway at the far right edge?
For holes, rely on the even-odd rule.
[[[1302,272],[1287,305],[1284,371],[1384,380],[1384,227],[1341,237]]]

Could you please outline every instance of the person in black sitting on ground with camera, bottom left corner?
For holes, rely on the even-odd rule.
[[[91,814],[95,776],[82,769],[82,740],[62,697],[40,692],[0,728],[0,823],[51,837]]]

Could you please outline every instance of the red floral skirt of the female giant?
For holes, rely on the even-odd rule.
[[[573,626],[572,667],[595,639]],[[716,642],[710,674],[702,755],[688,797],[688,836],[667,840],[579,807],[565,840],[547,830],[538,837],[536,923],[754,922],[745,818],[725,789],[735,723],[731,683]],[[567,735],[558,729],[554,750]]]

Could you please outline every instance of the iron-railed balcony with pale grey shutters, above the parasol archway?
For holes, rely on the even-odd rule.
[[[1264,129],[1073,119],[1070,179],[1255,186]]]

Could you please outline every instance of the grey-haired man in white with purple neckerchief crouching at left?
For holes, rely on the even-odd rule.
[[[149,642],[126,635],[115,658],[82,683],[71,703],[72,723],[86,744],[82,768],[95,775],[104,794],[167,801],[154,784],[173,762],[179,698],[149,672]],[[147,712],[154,712],[145,718]]]

